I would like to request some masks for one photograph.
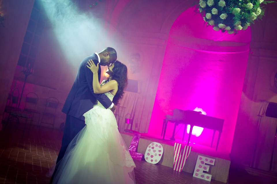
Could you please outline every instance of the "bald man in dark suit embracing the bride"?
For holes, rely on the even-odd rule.
[[[65,151],[72,141],[72,139],[85,127],[85,117],[83,114],[90,110],[96,100],[107,109],[115,110],[115,106],[112,101],[105,94],[93,93],[92,80],[93,73],[87,67],[87,62],[93,60],[97,65],[99,63],[102,66],[109,66],[117,59],[117,53],[115,49],[107,47],[100,53],[94,53],[81,62],[78,68],[78,72],[73,83],[73,86],[65,100],[63,109],[61,110],[66,114],[65,128],[63,131],[63,138],[61,141],[61,149],[57,158],[58,163],[64,156]],[[100,82],[101,67],[98,70],[98,80]],[[51,177],[51,181],[54,178],[57,168]],[[50,182],[51,182],[50,181]]]

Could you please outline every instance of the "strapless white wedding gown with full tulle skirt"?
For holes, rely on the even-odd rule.
[[[105,93],[111,100],[113,95]],[[134,161],[118,129],[113,112],[100,102],[86,112],[86,126],[71,141],[53,183],[136,183]]]

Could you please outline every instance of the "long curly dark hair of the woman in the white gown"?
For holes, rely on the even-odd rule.
[[[128,77],[127,77],[127,66],[118,60],[114,62],[112,77],[113,80],[118,83],[118,90],[115,96],[113,97],[113,103],[115,105],[118,104],[119,100],[122,98],[125,93],[124,90],[128,85]]]

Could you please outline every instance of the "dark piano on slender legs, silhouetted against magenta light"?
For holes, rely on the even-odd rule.
[[[176,126],[178,124],[185,124],[185,125],[190,124],[190,133],[188,135],[187,145],[190,142],[190,136],[192,133],[193,126],[203,127],[203,128],[214,130],[211,147],[213,145],[214,135],[215,135],[216,131],[218,131],[219,133],[218,133],[218,139],[217,139],[217,144],[216,144],[216,150],[217,150],[220,135],[222,133],[222,127],[223,127],[223,122],[224,122],[223,119],[206,116],[206,115],[201,114],[201,112],[196,112],[196,111],[192,111],[192,110],[174,109],[173,115],[165,116],[163,126],[162,126],[162,136],[163,136],[162,140],[164,140],[166,126],[167,126],[168,121],[175,123],[174,129],[173,129],[173,134],[172,134],[172,137],[170,138],[173,141],[175,141],[174,135],[175,135]],[[186,132],[186,126],[184,128],[184,134],[183,134],[182,141],[184,141],[185,132]]]

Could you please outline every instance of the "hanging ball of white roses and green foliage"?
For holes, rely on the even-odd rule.
[[[261,4],[275,1],[264,0],[200,0],[196,11],[201,13],[207,26],[213,26],[216,31],[227,31],[237,34],[238,30],[246,30],[261,19],[264,9]]]

